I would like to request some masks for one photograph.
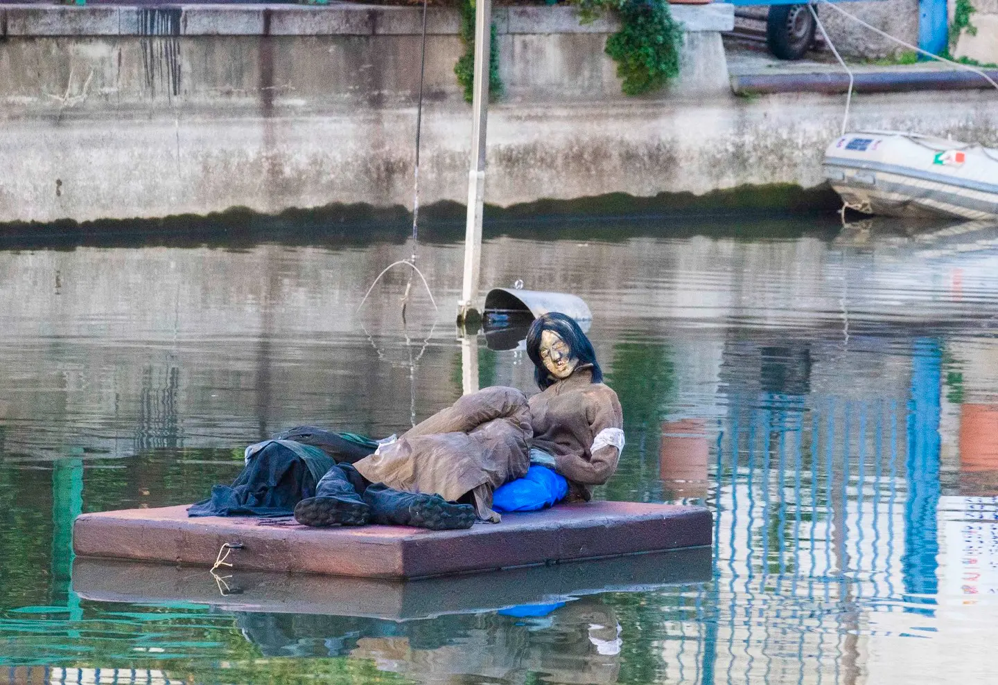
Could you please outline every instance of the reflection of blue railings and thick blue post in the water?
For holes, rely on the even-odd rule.
[[[724,610],[705,632],[706,653],[725,644],[705,664],[705,683],[719,670],[725,682],[771,682],[774,659],[791,654],[796,682],[850,681],[856,637],[876,629],[870,616],[934,616],[911,604],[934,605],[938,591],[941,360],[937,340],[914,342],[901,416],[882,397],[730,396],[718,424],[717,582],[706,590]]]

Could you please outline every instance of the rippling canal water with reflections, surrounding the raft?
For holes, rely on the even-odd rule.
[[[402,231],[0,239],[0,682],[998,677],[981,224],[492,226],[487,286],[593,311],[627,435],[597,497],[704,504],[711,550],[408,585],[73,558],[76,514],[202,499],[282,428],[383,437],[467,383],[529,390],[516,336],[453,324],[458,230],[424,231],[439,312],[417,282],[404,321],[403,270],[360,306]]]

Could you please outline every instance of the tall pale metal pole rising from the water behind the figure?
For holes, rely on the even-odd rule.
[[[471,108],[471,169],[468,171],[468,221],[464,233],[464,284],[457,320],[477,319],[475,299],[482,260],[482,204],[485,200],[485,120],[489,105],[489,55],[492,38],[491,0],[476,0],[475,80]]]

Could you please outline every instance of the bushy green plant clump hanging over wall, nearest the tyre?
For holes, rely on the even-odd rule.
[[[612,10],[621,29],[607,39],[606,52],[617,62],[626,95],[658,90],[679,76],[683,27],[666,0],[571,0],[583,23]]]

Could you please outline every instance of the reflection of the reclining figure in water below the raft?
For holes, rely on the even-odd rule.
[[[599,597],[570,601],[543,617],[487,614],[461,622],[467,627],[451,633],[452,644],[420,649],[410,637],[365,637],[350,656],[427,683],[460,675],[526,682],[529,672],[539,673],[541,681],[617,682],[620,624],[613,607]]]

